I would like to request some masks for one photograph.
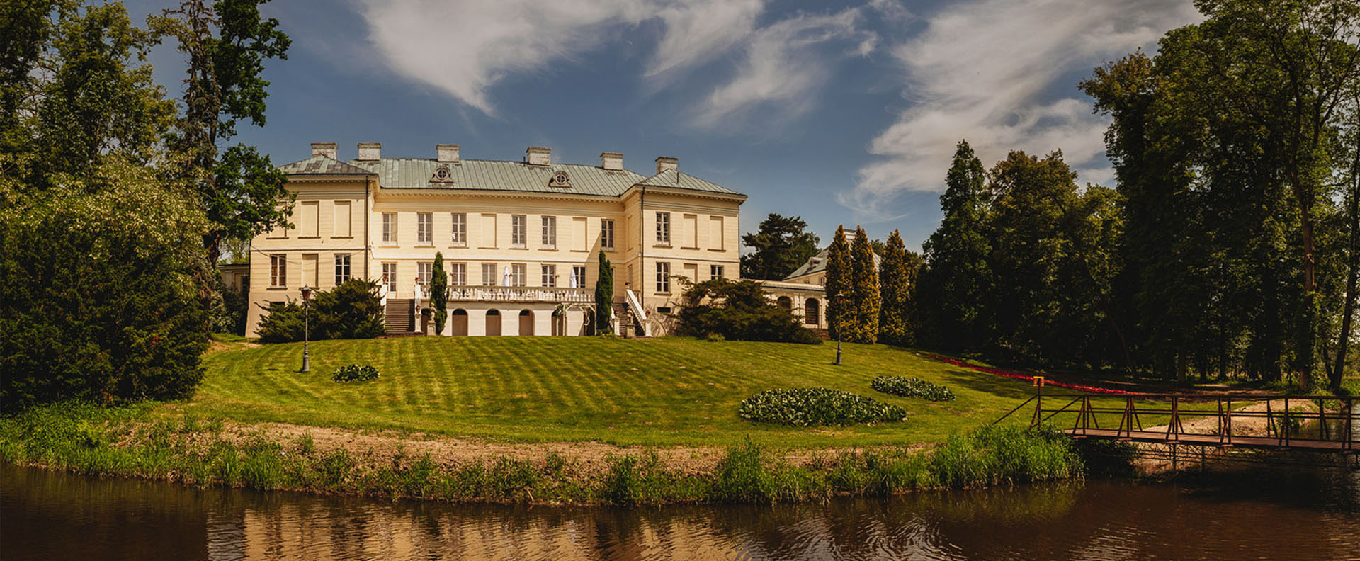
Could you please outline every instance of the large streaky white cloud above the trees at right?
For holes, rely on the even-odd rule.
[[[1108,121],[1062,80],[1198,18],[1186,0],[981,0],[928,16],[919,35],[894,49],[910,109],[873,139],[869,151],[881,158],[840,202],[883,216],[902,192],[942,189],[960,139],[987,166],[1009,149],[1062,149],[1069,164],[1085,166],[1081,181],[1108,181],[1099,166]],[[1072,96],[1054,99],[1055,88]]]

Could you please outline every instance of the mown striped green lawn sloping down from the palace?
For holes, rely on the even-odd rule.
[[[990,422],[1032,394],[1024,382],[952,367],[887,345],[707,342],[690,338],[386,338],[230,348],[207,357],[189,412],[237,421],[396,429],[513,441],[721,446],[747,437],[778,447],[940,441]],[[377,382],[335,383],[345,364]],[[959,399],[880,394],[873,376],[918,376]],[[785,428],[737,417],[741,399],[775,387],[830,387],[895,403],[904,422]]]

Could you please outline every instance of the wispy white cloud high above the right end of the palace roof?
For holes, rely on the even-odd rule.
[[[781,120],[812,109],[816,88],[831,75],[826,43],[845,43],[840,56],[868,56],[879,35],[858,26],[861,8],[830,15],[800,14],[758,30],[728,83],[699,106],[695,125],[717,128],[758,106],[777,106]]]

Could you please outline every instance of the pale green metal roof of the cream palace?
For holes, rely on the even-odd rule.
[[[449,168],[447,179],[435,178],[435,171],[441,166]],[[564,163],[549,166],[502,160],[461,160],[454,163],[428,158],[384,158],[347,163],[325,156],[313,156],[279,166],[279,170],[290,175],[375,174],[378,175],[378,186],[382,189],[494,190],[619,197],[634,185],[646,185],[738,194],[728,187],[675,170],[666,170],[649,178],[628,170],[605,170],[598,166]],[[566,171],[568,186],[549,185],[558,171]]]

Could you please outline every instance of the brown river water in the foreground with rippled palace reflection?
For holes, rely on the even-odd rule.
[[[1092,481],[826,505],[529,508],[0,467],[0,558],[1360,560],[1360,474]]]

